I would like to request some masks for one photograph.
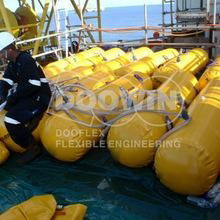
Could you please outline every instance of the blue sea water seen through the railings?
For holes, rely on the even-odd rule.
[[[168,10],[168,5],[166,6]],[[87,12],[85,16],[95,16],[97,12]],[[112,7],[105,8],[101,12],[102,28],[127,28],[144,26],[144,6],[129,6],[129,7]],[[74,11],[68,12],[70,25],[80,25],[81,22]],[[65,11],[60,11],[61,29],[65,28]],[[166,16],[166,21],[169,21],[169,16]],[[162,5],[147,6],[147,24],[148,26],[159,26],[162,23]],[[87,24],[93,24],[97,27],[97,19],[87,20]],[[52,22],[54,28],[54,22]],[[93,33],[95,39],[98,39],[98,33]],[[153,36],[153,31],[148,32],[148,37]],[[136,32],[103,32],[103,41],[118,41],[118,40],[140,40],[144,39],[144,31]]]

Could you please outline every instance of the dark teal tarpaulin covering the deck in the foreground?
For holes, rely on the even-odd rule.
[[[107,149],[92,149],[75,163],[59,162],[47,153],[18,165],[12,155],[0,168],[0,211],[34,195],[53,194],[59,204],[88,206],[86,219],[213,220],[220,207],[202,209],[171,192],[153,168],[131,169],[116,163]]]

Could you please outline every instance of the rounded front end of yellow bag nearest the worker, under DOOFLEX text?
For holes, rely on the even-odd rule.
[[[88,124],[98,125],[99,121],[92,121],[86,114],[73,112],[77,120]],[[57,160],[74,162],[82,158],[98,141],[100,129],[85,127],[68,117],[61,111],[46,120],[41,132],[41,142],[46,150]]]

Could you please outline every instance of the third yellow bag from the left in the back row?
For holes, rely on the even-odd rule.
[[[121,67],[128,65],[134,61],[140,60],[144,57],[153,54],[153,51],[148,47],[140,47],[138,49],[132,50],[132,52],[128,52],[108,63],[101,63],[95,66],[94,71],[101,71],[103,73],[115,71],[120,69]]]

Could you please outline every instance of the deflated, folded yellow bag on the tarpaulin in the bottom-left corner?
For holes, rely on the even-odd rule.
[[[34,196],[8,209],[0,220],[83,220],[87,207],[82,204],[69,205],[57,210],[52,195]]]

